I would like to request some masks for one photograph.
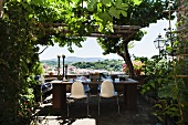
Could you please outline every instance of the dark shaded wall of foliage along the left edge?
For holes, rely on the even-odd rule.
[[[10,6],[10,7],[9,7]],[[30,95],[29,88],[35,84],[32,77],[32,70],[38,61],[38,54],[32,40],[29,40],[25,28],[25,17],[20,17],[22,8],[9,7],[9,17],[0,19],[0,111],[2,125],[27,124],[31,119],[31,107],[23,107],[21,95]],[[17,13],[17,14],[15,14]],[[24,14],[23,14],[24,15]],[[27,81],[31,79],[31,81]],[[28,96],[27,96],[28,97]],[[24,111],[24,114],[19,115]]]

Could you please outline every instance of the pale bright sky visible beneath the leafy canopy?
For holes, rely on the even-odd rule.
[[[171,21],[171,28],[175,29],[175,21]],[[159,20],[157,23],[150,24],[148,28],[143,30],[147,31],[147,34],[140,41],[135,42],[135,46],[129,49],[129,54],[135,56],[147,56],[152,58],[157,55],[159,50],[154,45],[155,39],[160,33],[165,38],[164,29],[169,28],[169,22],[167,20]],[[86,41],[82,43],[83,48],[73,46],[74,53],[69,52],[67,46],[60,48],[58,44],[54,46],[49,46],[42,54],[40,54],[40,60],[56,59],[58,55],[64,54],[65,56],[77,56],[77,58],[104,58],[104,59],[122,59],[117,54],[103,55],[103,50],[96,42],[96,38],[87,38]],[[45,46],[40,46],[42,51]]]

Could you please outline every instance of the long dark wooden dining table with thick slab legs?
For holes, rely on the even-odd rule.
[[[62,110],[66,107],[66,85],[71,85],[72,82],[52,81],[52,108]],[[101,84],[102,82],[85,82],[84,84]],[[128,79],[127,81],[114,82],[115,84],[121,84],[124,87],[123,98],[127,111],[137,111],[137,84],[139,82]]]

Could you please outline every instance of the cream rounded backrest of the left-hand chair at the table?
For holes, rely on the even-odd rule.
[[[73,98],[85,97],[84,85],[80,81],[75,81],[71,86],[71,96]]]

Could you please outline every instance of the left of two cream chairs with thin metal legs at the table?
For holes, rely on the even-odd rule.
[[[71,86],[71,94],[67,96],[67,98],[74,98],[74,100],[80,100],[80,98],[86,98],[87,103],[87,116],[88,116],[88,96],[84,92],[84,85],[80,81],[75,81],[72,86]],[[69,111],[69,103],[67,103],[67,117],[70,115]]]

